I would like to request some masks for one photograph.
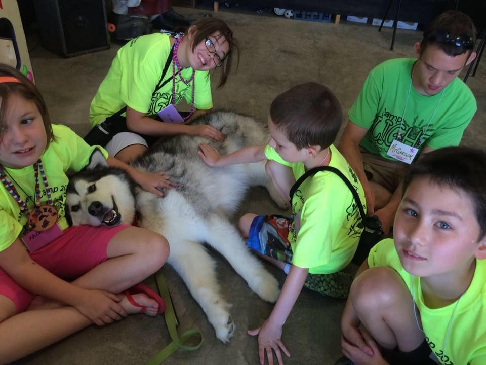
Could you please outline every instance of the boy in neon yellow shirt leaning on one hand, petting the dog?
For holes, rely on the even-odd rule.
[[[200,145],[200,157],[210,166],[259,162],[268,159],[266,170],[281,192],[289,195],[293,182],[318,166],[338,169],[351,182],[364,203],[365,193],[344,157],[332,144],[341,127],[342,111],[336,96],[317,83],[297,85],[278,95],[270,106],[268,145],[253,146],[220,157]],[[288,199],[288,198],[287,198]],[[359,203],[358,203],[359,204]],[[240,218],[239,229],[247,244],[288,276],[270,317],[250,335],[258,335],[260,363],[272,348],[278,363],[282,326],[302,287],[336,298],[345,298],[349,283],[341,270],[351,261],[362,232],[361,217],[351,190],[334,172],[320,171],[307,178],[292,196],[292,217]]]

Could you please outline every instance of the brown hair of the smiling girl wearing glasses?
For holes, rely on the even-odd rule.
[[[231,64],[233,61],[233,53],[236,56],[236,67],[239,64],[239,48],[236,39],[233,37],[233,32],[228,25],[218,18],[205,17],[196,20],[188,29],[188,32],[192,31],[192,50],[201,42],[205,41],[206,37],[219,33],[216,36],[217,39],[224,37],[228,42],[229,50],[226,56],[223,58],[223,64],[221,65],[221,77],[217,88],[219,89],[226,83],[226,79],[231,72]]]

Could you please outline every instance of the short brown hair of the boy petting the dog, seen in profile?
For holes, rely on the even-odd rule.
[[[343,112],[329,88],[307,82],[278,95],[270,105],[270,118],[297,149],[312,145],[325,149],[336,139]]]

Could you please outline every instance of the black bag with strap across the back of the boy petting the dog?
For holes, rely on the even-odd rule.
[[[335,167],[330,166],[318,166],[308,170],[305,174],[303,174],[299,179],[295,182],[295,184],[290,189],[290,204],[292,205],[292,198],[294,197],[295,192],[301,184],[310,176],[314,176],[319,171],[331,171],[337,174],[341,179],[345,182],[351,193],[353,194],[354,200],[358,205],[359,213],[361,215],[361,223],[358,224],[358,227],[363,227],[363,232],[361,233],[361,238],[359,239],[358,248],[354,253],[354,257],[352,262],[356,265],[361,265],[363,261],[366,260],[368,257],[368,253],[373,248],[373,246],[383,238],[383,230],[381,229],[381,222],[376,215],[368,216],[365,213],[365,209],[361,204],[361,199],[359,199],[359,195],[356,190],[351,185],[351,182],[348,180],[344,174],[339,171]]]

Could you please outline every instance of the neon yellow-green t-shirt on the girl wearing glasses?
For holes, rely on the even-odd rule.
[[[171,52],[169,35],[153,33],[139,36],[121,47],[111,63],[108,74],[101,82],[90,106],[91,126],[100,124],[125,106],[145,112],[153,117],[172,103],[172,81],[155,90],[163,76],[162,71]],[[177,67],[176,67],[177,73]],[[184,80],[189,80],[192,68],[181,70]],[[163,80],[172,79],[172,61]],[[176,75],[175,104],[182,98],[191,105],[192,82],[186,85]],[[194,108],[211,109],[211,81],[209,71],[196,71],[194,75]]]

